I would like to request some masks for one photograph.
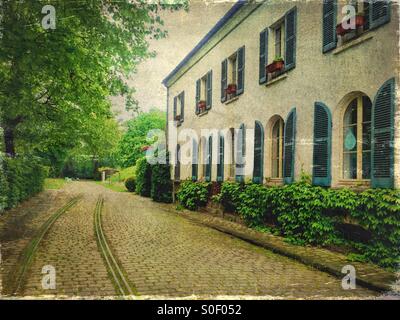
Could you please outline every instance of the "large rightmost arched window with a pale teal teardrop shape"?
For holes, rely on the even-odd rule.
[[[371,178],[371,100],[359,95],[343,119],[343,178]]]

